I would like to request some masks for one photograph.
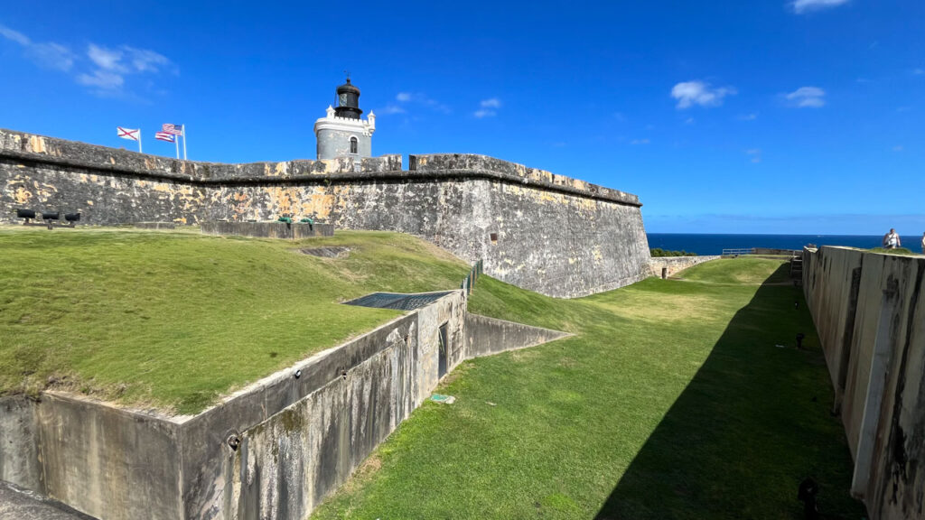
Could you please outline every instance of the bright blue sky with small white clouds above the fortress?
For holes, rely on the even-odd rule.
[[[80,5],[79,5],[80,4]],[[349,69],[374,154],[475,153],[642,200],[650,232],[925,231],[925,2],[31,2],[0,127],[314,158]]]

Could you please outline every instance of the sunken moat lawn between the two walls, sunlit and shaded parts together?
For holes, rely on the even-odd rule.
[[[796,519],[808,476],[826,518],[863,517],[787,271],[720,260],[577,300],[479,279],[470,310],[575,336],[461,365],[438,390],[456,402],[426,402],[313,518]]]

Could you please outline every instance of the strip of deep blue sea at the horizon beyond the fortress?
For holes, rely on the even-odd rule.
[[[917,237],[908,237],[918,245]],[[920,240],[920,237],[918,237]],[[696,254],[722,254],[723,249],[803,249],[808,244],[845,245],[870,249],[880,247],[882,236],[874,235],[720,235],[693,233],[648,233],[648,247]],[[903,244],[907,245],[907,244]],[[916,250],[918,248],[910,248]]]

